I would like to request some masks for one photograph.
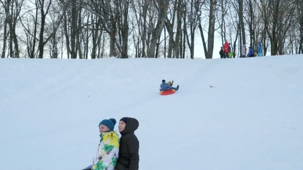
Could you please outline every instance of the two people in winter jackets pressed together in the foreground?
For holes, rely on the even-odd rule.
[[[134,134],[139,127],[135,118],[123,117],[119,122],[119,139],[114,131],[116,120],[99,123],[100,144],[93,165],[83,170],[139,170],[139,141]]]

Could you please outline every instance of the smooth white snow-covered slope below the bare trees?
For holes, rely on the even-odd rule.
[[[0,68],[0,170],[85,168],[99,122],[124,116],[140,122],[140,170],[303,170],[302,55]],[[180,90],[160,96],[162,79]]]

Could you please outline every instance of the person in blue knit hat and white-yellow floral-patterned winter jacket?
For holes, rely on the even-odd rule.
[[[99,123],[100,144],[93,165],[83,170],[114,170],[119,154],[119,137],[114,131],[116,120],[104,119]]]

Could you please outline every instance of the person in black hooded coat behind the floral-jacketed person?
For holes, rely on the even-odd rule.
[[[135,130],[139,122],[135,118],[123,117],[119,123],[120,139],[119,158],[115,170],[139,170],[139,141]]]

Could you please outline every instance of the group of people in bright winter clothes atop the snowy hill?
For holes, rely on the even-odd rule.
[[[221,47],[221,50],[219,52],[220,58],[232,58],[236,56],[234,52],[231,51],[230,43],[225,40],[224,46]],[[253,47],[249,47],[249,51],[247,53],[247,48],[245,45],[242,45],[242,53],[240,55],[240,58],[245,57],[261,57],[262,56],[262,45],[261,43],[258,44],[257,50],[254,50]]]

